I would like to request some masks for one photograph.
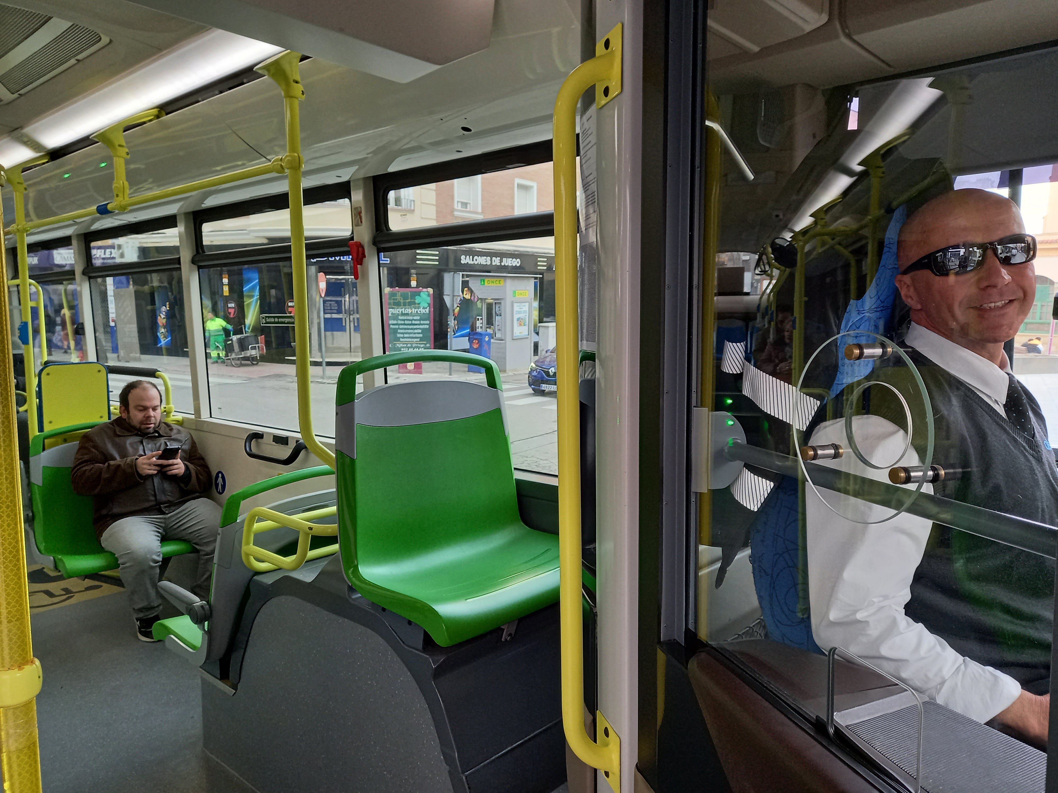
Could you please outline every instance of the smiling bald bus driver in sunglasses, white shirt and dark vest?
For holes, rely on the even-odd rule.
[[[932,461],[964,469],[933,492],[1058,525],[1058,472],[1046,423],[1003,351],[1033,307],[1036,247],[1027,236],[1017,248],[1001,251],[996,241],[1023,233],[1017,205],[985,190],[948,192],[912,215],[897,248],[896,282],[912,318],[904,347],[912,348],[907,352],[930,394]],[[966,241],[991,244],[977,269],[952,272],[947,268]],[[948,246],[954,248],[928,256]],[[884,391],[872,389],[875,404],[884,402]],[[917,394],[906,395],[910,402]],[[907,435],[894,426],[904,424],[902,411],[899,417],[853,420],[868,459],[901,454]],[[810,442],[849,449],[844,421],[820,424]],[[875,479],[888,472],[869,469],[851,454],[835,462]],[[845,519],[811,488],[806,515],[811,624],[820,647],[840,646],[943,705],[1045,744],[1053,559],[907,513],[874,524]]]

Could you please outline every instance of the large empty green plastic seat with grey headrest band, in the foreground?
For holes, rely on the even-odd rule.
[[[393,383],[365,371],[414,362],[485,367],[488,385]],[[442,350],[342,370],[335,429],[339,540],[349,583],[441,646],[559,600],[559,538],[518,516],[499,369]]]

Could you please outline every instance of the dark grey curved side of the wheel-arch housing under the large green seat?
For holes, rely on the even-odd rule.
[[[202,745],[260,793],[452,791],[430,708],[393,648],[289,595],[254,621],[238,691],[202,687]]]

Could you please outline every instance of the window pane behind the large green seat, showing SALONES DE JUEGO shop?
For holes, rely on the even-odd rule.
[[[514,466],[557,474],[553,238],[390,252],[379,261],[386,351],[461,350],[495,361]],[[391,367],[386,379],[484,383],[477,369],[420,363]]]

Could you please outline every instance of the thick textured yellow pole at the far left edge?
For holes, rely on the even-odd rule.
[[[21,174],[19,174],[21,176]],[[16,197],[19,193],[16,191]],[[16,198],[16,202],[18,199]],[[17,205],[17,203],[16,203]],[[6,272],[0,206],[0,265]],[[25,236],[20,237],[24,251]],[[22,306],[29,306],[29,284],[20,284]],[[0,350],[11,349],[7,290],[0,291]],[[40,664],[33,658],[30,637],[30,593],[26,588],[22,488],[15,426],[15,376],[10,366],[0,374],[0,777],[4,793],[40,793],[40,751],[37,745],[37,702]],[[26,367],[26,374],[31,367]],[[29,394],[28,394],[29,395]],[[34,405],[31,399],[30,405]],[[35,405],[34,405],[35,407]],[[34,421],[31,414],[31,421]],[[31,424],[35,426],[35,424]]]

